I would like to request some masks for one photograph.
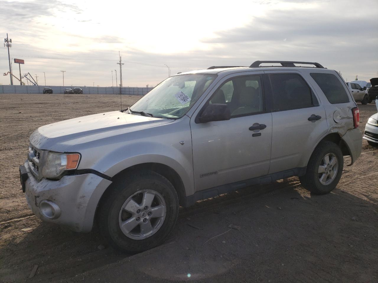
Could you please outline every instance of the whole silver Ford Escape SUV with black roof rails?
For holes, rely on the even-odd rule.
[[[77,232],[96,221],[110,244],[140,252],[198,200],[291,176],[327,194],[343,155],[352,165],[361,153],[358,124],[347,85],[319,63],[212,66],[122,111],[38,128],[20,178],[40,219]]]

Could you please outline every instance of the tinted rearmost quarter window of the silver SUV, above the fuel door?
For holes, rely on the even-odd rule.
[[[349,102],[349,96],[340,80],[334,74],[311,73],[311,77],[332,104]],[[352,88],[354,84],[351,84]]]

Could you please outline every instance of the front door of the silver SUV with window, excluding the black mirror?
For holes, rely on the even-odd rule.
[[[230,120],[195,123],[202,108],[191,118],[196,191],[268,174],[272,116],[265,111],[262,74],[248,73],[226,77],[206,100],[226,103]]]

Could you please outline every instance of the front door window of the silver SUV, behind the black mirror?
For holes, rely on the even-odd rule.
[[[227,104],[231,118],[264,111],[262,82],[259,75],[235,77],[224,82],[209,103]]]

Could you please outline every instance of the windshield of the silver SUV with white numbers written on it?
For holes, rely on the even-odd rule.
[[[177,119],[186,114],[216,75],[188,74],[169,77],[130,107],[156,118]]]

